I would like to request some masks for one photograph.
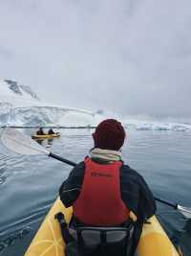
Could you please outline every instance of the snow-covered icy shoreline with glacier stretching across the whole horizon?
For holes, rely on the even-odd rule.
[[[29,85],[0,81],[0,127],[92,128],[106,119],[116,118],[125,128],[137,130],[191,131],[191,125],[134,118],[115,113],[96,112],[43,102]]]

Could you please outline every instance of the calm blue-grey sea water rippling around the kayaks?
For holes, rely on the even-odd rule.
[[[93,147],[91,129],[59,131],[60,138],[42,146],[76,162]],[[156,196],[191,207],[190,151],[190,132],[130,130],[123,160],[144,176]],[[0,144],[0,255],[24,255],[70,171],[70,166],[47,156],[19,155]],[[190,256],[191,223],[162,204],[158,215],[170,238]]]

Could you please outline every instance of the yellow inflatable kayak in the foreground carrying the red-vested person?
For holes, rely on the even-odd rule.
[[[58,221],[54,220],[57,212],[63,212],[66,221],[70,221],[73,208],[65,208],[59,198],[53,204],[46,219],[41,224],[25,256],[64,256],[65,243],[62,239]],[[180,256],[156,216],[145,223],[135,256]],[[109,256],[109,255],[108,255]]]

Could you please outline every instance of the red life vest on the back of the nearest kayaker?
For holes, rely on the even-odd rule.
[[[129,217],[129,209],[121,199],[119,170],[121,161],[98,164],[85,159],[85,175],[79,197],[74,202],[74,216],[96,226],[115,226]]]

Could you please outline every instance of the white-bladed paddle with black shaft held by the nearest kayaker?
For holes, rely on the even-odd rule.
[[[64,162],[71,166],[76,166],[76,163],[65,159],[59,155],[54,154],[51,151],[47,151],[41,145],[39,145],[36,141],[32,140],[32,138],[23,132],[15,129],[15,128],[5,128],[1,134],[1,141],[11,151],[35,155],[35,154],[45,154],[47,156],[53,157],[61,162]],[[182,215],[186,218],[191,219],[191,208],[183,207],[178,203],[174,203],[171,201],[164,200],[162,198],[155,198],[157,201],[164,203],[176,210],[179,210]]]

